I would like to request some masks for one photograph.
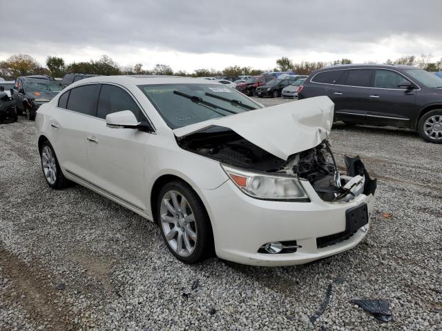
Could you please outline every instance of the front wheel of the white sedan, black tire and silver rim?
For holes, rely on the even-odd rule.
[[[190,185],[178,180],[166,183],[158,194],[156,208],[155,221],[160,225],[164,243],[174,257],[193,264],[213,254],[210,219]]]

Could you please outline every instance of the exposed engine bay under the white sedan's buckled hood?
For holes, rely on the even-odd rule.
[[[344,157],[347,174],[340,174],[327,140],[293,154],[287,161],[254,145],[229,128],[212,126],[181,139],[184,150],[210,157],[245,170],[298,177],[309,181],[324,201],[349,201],[358,194],[376,190],[359,157]]]

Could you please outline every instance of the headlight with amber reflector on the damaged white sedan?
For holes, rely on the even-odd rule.
[[[309,196],[294,177],[271,176],[249,172],[230,165],[221,164],[224,171],[242,192],[267,200],[306,200]]]

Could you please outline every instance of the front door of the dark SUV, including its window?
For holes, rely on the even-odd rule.
[[[394,70],[375,70],[373,88],[369,92],[367,123],[410,127],[410,119],[416,116],[416,90],[398,88],[402,81],[410,82]]]

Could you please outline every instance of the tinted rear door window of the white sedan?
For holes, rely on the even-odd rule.
[[[99,87],[97,84],[79,86],[70,90],[68,110],[81,112],[81,114],[95,116]]]

